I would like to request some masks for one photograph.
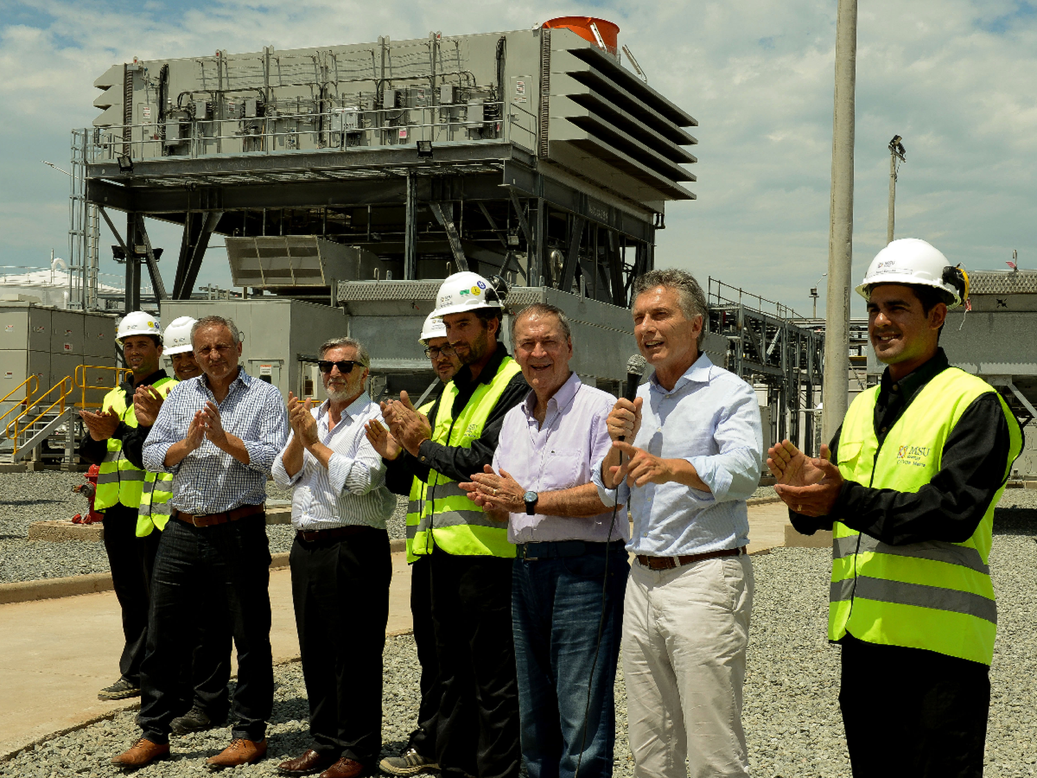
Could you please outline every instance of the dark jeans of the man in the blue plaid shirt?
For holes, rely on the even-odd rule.
[[[274,707],[270,645],[270,546],[265,515],[214,527],[170,519],[151,578],[147,652],[141,666],[140,722],[152,743],[169,742],[180,699],[180,665],[201,619],[223,619],[237,649],[233,738],[262,740]]]

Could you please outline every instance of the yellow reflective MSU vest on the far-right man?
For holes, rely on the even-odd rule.
[[[858,395],[839,434],[843,478],[872,489],[915,493],[941,468],[944,445],[961,415],[993,392],[1009,428],[1007,478],[1021,434],[1005,400],[989,384],[954,367],[935,376],[878,444],[874,410],[878,387]],[[990,664],[998,612],[987,561],[993,508],[1004,484],[964,543],[927,540],[890,546],[842,522],[833,526],[829,639],[847,632],[870,643],[925,648]]]

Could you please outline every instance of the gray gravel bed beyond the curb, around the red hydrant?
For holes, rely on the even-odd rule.
[[[29,525],[46,520],[68,521],[86,512],[86,500],[74,494],[74,485],[85,483],[82,473],[41,471],[0,474],[0,583],[43,578],[106,573],[108,556],[104,544],[68,540],[29,540]],[[268,498],[290,504],[291,492],[267,483]],[[39,497],[46,495],[46,497]],[[389,520],[389,537],[404,537],[407,499],[399,498]],[[272,554],[288,551],[295,531],[287,524],[267,526]]]

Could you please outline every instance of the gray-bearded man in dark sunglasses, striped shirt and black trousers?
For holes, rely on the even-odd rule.
[[[283,775],[354,778],[382,750],[382,651],[392,561],[386,520],[396,498],[364,425],[382,412],[364,391],[370,357],[353,338],[320,346],[328,399],[288,395],[291,437],[274,480],[291,487],[291,596],[313,745]]]

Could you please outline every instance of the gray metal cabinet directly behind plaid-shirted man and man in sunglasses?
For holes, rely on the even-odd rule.
[[[341,308],[285,297],[161,303],[164,324],[179,316],[211,315],[233,319],[243,336],[241,365],[280,389],[285,401],[289,391],[298,397],[325,398],[317,352],[326,340],[348,334]]]

